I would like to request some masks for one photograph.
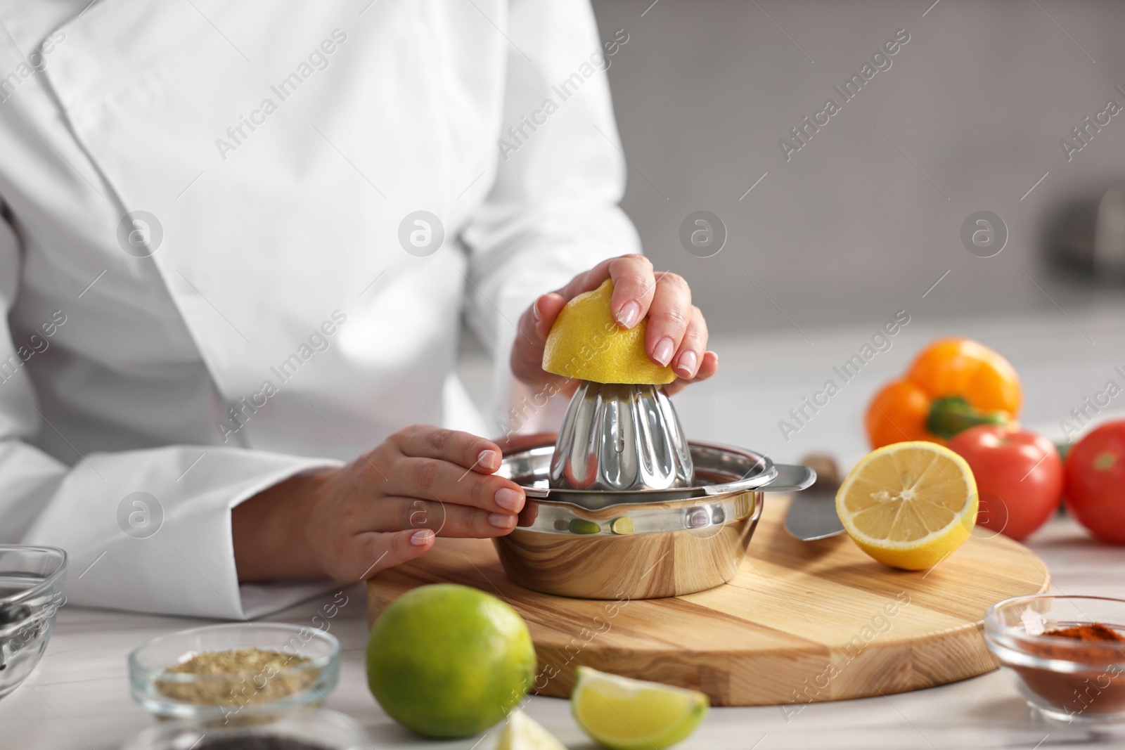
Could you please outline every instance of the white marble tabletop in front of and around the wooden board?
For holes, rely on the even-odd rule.
[[[1125,596],[1125,550],[1091,541],[1071,521],[1059,518],[1030,546],[1047,562],[1054,589],[1064,594]],[[332,621],[343,647],[340,687],[332,711],[368,734],[371,747],[477,747],[493,738],[428,743],[398,728],[367,690],[364,598],[360,587]],[[332,595],[269,617],[308,623]],[[16,693],[0,701],[0,748],[118,747],[152,724],[128,695],[125,658],[144,640],[204,621],[64,607],[47,653]],[[532,698],[528,713],[570,748],[592,748],[570,719],[569,704]],[[757,744],[755,744],[757,743]],[[1125,728],[1082,729],[1034,716],[1008,675],[990,672],[954,685],[886,698],[812,704],[789,717],[778,707],[712,710],[684,750],[780,748],[1069,748],[1123,747]]]

